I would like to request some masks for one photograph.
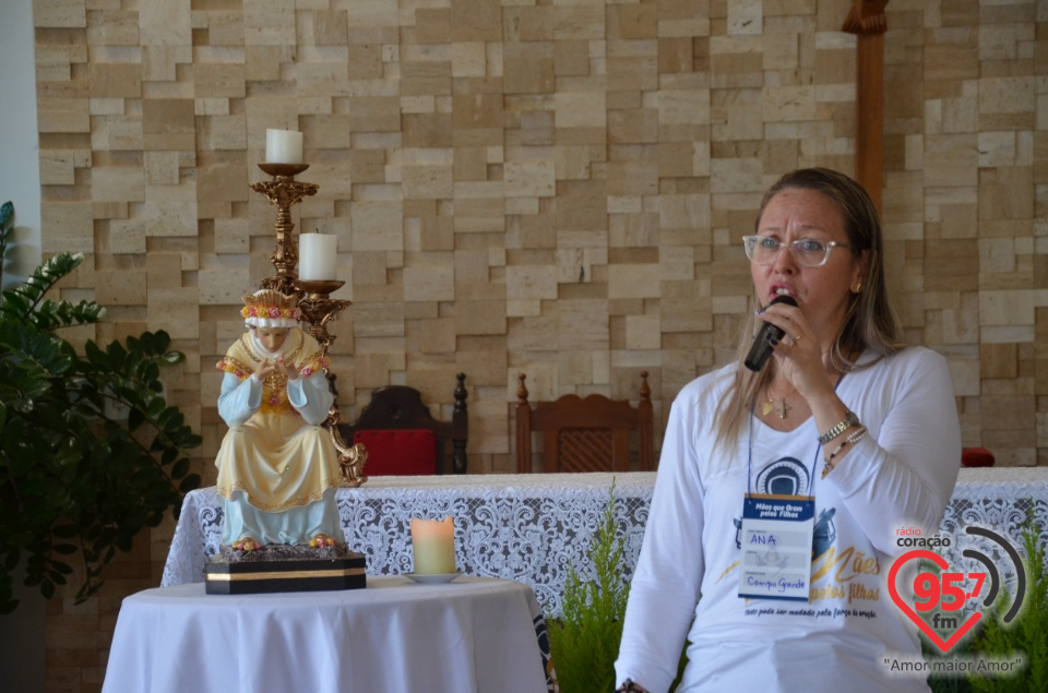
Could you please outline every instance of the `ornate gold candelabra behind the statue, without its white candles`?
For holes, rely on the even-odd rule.
[[[327,349],[335,337],[327,332],[327,323],[338,313],[352,306],[352,301],[333,299],[331,294],[342,287],[345,282],[337,279],[299,279],[298,251],[295,249],[293,232],[295,224],[291,222],[291,207],[301,202],[307,195],[314,195],[320,190],[317,183],[305,183],[295,180],[308,164],[259,164],[259,168],[273,177],[272,180],[252,183],[251,189],[262,193],[276,205],[276,250],[270,255],[276,276],[262,280],[262,288],[276,289],[282,294],[298,297],[298,307],[302,316],[309,323],[309,333],[320,344],[324,360],[327,359]],[[338,431],[342,422],[342,413],[338,410],[338,393],[334,386],[334,375],[325,369],[327,384],[335,402],[327,411],[324,427],[331,434],[332,443],[338,453],[338,463],[342,467],[342,486],[358,487],[368,480],[364,476],[364,465],[368,459],[364,445],[350,445]]]

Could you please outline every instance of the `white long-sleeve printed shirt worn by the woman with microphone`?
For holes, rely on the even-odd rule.
[[[734,457],[714,449],[717,405],[735,368],[691,382],[670,410],[618,684],[668,690],[687,637],[681,693],[927,691],[922,678],[886,664],[920,656],[917,629],[892,601],[886,577],[906,550],[898,530],[934,534],[956,483],[961,433],[945,359],[913,347],[846,375],[837,394],[869,432],[824,479],[811,417],[781,432],[751,416]],[[743,495],[807,495],[809,482],[809,602],[739,598]]]

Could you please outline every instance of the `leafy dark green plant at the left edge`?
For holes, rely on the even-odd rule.
[[[0,271],[14,207],[0,207]],[[168,406],[160,367],[184,356],[165,332],[83,353],[62,328],[103,320],[94,301],[44,295],[84,260],[61,253],[0,294],[0,613],[13,611],[12,573],[50,598],[84,565],[83,601],[117,550],[129,551],[182,494],[200,485],[188,450],[201,438]]]

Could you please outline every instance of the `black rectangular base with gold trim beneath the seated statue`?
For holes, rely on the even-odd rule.
[[[204,577],[209,595],[367,587],[364,555],[345,547],[270,545],[254,551],[223,547],[207,560]]]

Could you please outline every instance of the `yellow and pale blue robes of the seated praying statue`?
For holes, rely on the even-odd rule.
[[[279,355],[302,377],[254,378],[263,360]],[[277,353],[249,331],[218,362],[218,413],[229,426],[215,458],[217,492],[226,499],[223,545],[247,537],[306,543],[318,534],[344,541],[334,498],[338,457],[320,426],[333,402],[324,367],[320,345],[297,327]]]

